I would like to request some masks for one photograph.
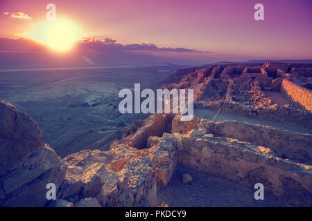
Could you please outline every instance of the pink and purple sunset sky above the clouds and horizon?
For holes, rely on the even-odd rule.
[[[155,56],[184,48],[233,61],[312,58],[311,0],[1,0],[0,37],[31,38],[46,21],[48,3],[55,4],[57,19],[79,26],[80,37],[163,48],[153,50]],[[264,6],[263,21],[254,19],[256,3]]]

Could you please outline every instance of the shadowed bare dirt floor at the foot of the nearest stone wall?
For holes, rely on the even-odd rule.
[[[182,183],[182,175],[189,173],[193,177],[190,184]],[[158,189],[160,204],[168,206],[285,206],[272,200],[264,193],[264,200],[254,200],[254,190],[228,180],[191,171],[177,166],[171,181],[166,187]]]

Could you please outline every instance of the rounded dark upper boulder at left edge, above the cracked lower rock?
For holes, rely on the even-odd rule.
[[[44,146],[42,133],[23,108],[0,100],[0,177],[30,151]]]

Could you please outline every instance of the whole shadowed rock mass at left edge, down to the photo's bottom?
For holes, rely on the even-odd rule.
[[[67,166],[23,108],[0,100],[0,206],[44,206],[46,184],[58,188]]]

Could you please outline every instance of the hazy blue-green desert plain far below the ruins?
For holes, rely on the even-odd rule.
[[[107,149],[141,115],[121,115],[119,90],[155,88],[181,66],[0,70],[0,99],[19,104],[61,156]]]

